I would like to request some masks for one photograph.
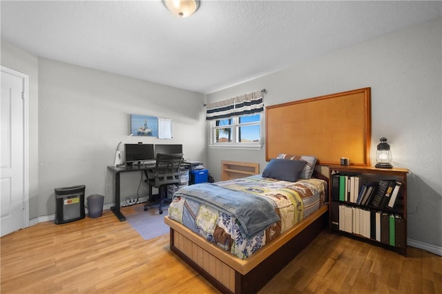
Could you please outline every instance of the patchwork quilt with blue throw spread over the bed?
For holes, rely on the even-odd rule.
[[[253,175],[180,188],[169,217],[245,259],[322,206],[326,193],[322,179],[285,182]]]

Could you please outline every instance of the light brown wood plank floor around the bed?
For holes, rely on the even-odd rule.
[[[2,294],[218,293],[169,251],[169,234],[145,241],[109,211],[0,241]],[[442,257],[408,255],[323,231],[260,293],[442,293]]]

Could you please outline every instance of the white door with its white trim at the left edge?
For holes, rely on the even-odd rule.
[[[25,81],[25,75],[1,68],[1,236],[26,226],[28,184],[25,172],[28,168],[25,166],[25,122],[28,120],[25,111]]]

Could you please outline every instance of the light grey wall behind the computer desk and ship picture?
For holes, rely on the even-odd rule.
[[[130,115],[172,119],[173,139],[125,143],[183,144],[184,157],[206,159],[205,95],[108,72],[39,59],[39,215],[55,213],[54,188],[86,185],[86,197],[113,203],[115,148],[130,134]],[[124,150],[124,146],[122,146]],[[137,195],[141,173],[121,176],[121,198]],[[106,191],[105,191],[106,186]],[[142,183],[140,195],[147,195]]]

